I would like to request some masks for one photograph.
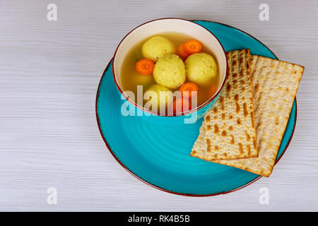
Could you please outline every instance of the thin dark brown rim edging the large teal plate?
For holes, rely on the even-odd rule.
[[[163,18],[158,18],[156,20],[160,20],[160,19],[163,19]],[[212,20],[191,20],[192,22],[194,21],[204,21],[204,22],[211,22],[211,23],[218,23],[216,21],[212,21]],[[236,30],[239,30],[240,32],[243,32],[245,33],[245,35],[248,35],[249,37],[252,37],[254,38],[254,40],[257,40],[257,42],[259,42],[260,44],[264,45],[264,47],[266,47],[267,49],[269,49],[269,47],[267,47],[263,42],[261,42],[260,40],[258,40],[256,37],[252,36],[252,35],[249,35],[249,33],[245,32],[244,30],[240,30],[239,28],[235,28],[231,25],[227,25],[225,23],[218,23],[220,25],[225,25],[229,28],[234,28]],[[269,49],[269,51],[271,52],[271,54],[273,54],[273,56],[276,57],[276,59],[278,59],[278,57],[271,51],[271,49]],[[259,175],[259,177],[255,178],[255,179],[252,179],[252,181],[250,182],[247,182],[247,184],[244,184],[236,189],[232,189],[230,191],[221,191],[221,192],[218,192],[218,193],[213,193],[213,194],[187,194],[187,193],[180,193],[180,192],[176,192],[176,191],[170,191],[170,190],[167,190],[167,189],[163,189],[161,188],[160,186],[157,186],[155,184],[151,184],[150,182],[146,182],[146,180],[144,179],[141,179],[140,177],[138,177],[136,174],[134,174],[134,172],[131,172],[131,170],[126,167],[118,158],[117,156],[114,154],[114,152],[112,151],[112,149],[110,148],[110,145],[107,143],[107,140],[104,136],[104,134],[102,133],[102,129],[101,129],[101,125],[100,125],[100,119],[98,117],[98,98],[100,96],[100,85],[102,83],[102,78],[104,78],[105,76],[105,72],[107,71],[107,69],[110,67],[110,64],[112,63],[114,57],[112,57],[112,59],[110,59],[110,62],[107,64],[104,72],[102,73],[102,77],[100,78],[100,82],[98,83],[98,90],[97,90],[97,93],[96,93],[96,98],[95,98],[95,116],[96,116],[96,121],[97,121],[97,124],[98,124],[98,129],[100,131],[100,135],[102,136],[102,140],[105,142],[105,145],[107,146],[108,150],[110,151],[110,153],[112,154],[112,157],[114,157],[115,160],[117,160],[117,162],[119,163],[119,165],[121,165],[124,169],[126,169],[127,172],[129,172],[132,176],[134,176],[135,178],[139,179],[139,181],[145,183],[145,184],[148,184],[149,186],[155,188],[155,189],[158,189],[160,191],[165,191],[167,193],[170,193],[170,194],[176,194],[176,195],[179,195],[179,196],[192,196],[192,197],[206,197],[206,196],[218,196],[218,195],[221,195],[221,194],[228,194],[228,193],[231,193],[233,191],[237,191],[237,190],[240,190],[240,189],[243,189],[245,188],[246,186],[249,186],[250,184],[253,184],[254,182],[256,182],[258,179],[260,179],[262,176]],[[278,157],[278,159],[276,160],[275,162],[275,165],[277,164],[277,162],[279,160],[281,160],[281,157],[283,157],[283,155],[285,154],[285,151],[287,150],[289,144],[290,144],[290,141],[292,140],[293,138],[293,134],[294,134],[294,131],[295,131],[295,127],[296,127],[296,122],[297,122],[297,100],[296,100],[296,96],[295,96],[295,120],[294,120],[294,126],[293,126],[293,131],[292,133],[290,134],[290,138],[288,139],[288,143],[286,144],[286,147],[285,149],[283,150],[283,153],[281,153],[281,156]],[[287,125],[286,125],[287,126]]]

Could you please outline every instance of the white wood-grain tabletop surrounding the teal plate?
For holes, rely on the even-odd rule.
[[[57,5],[57,21],[47,5]],[[259,5],[269,20],[259,20]],[[119,40],[154,18],[214,20],[305,66],[298,119],[269,179],[230,194],[167,194],[114,160],[95,94]],[[0,1],[0,210],[318,210],[317,1]],[[47,189],[57,189],[57,204]],[[269,205],[259,189],[269,189]]]

